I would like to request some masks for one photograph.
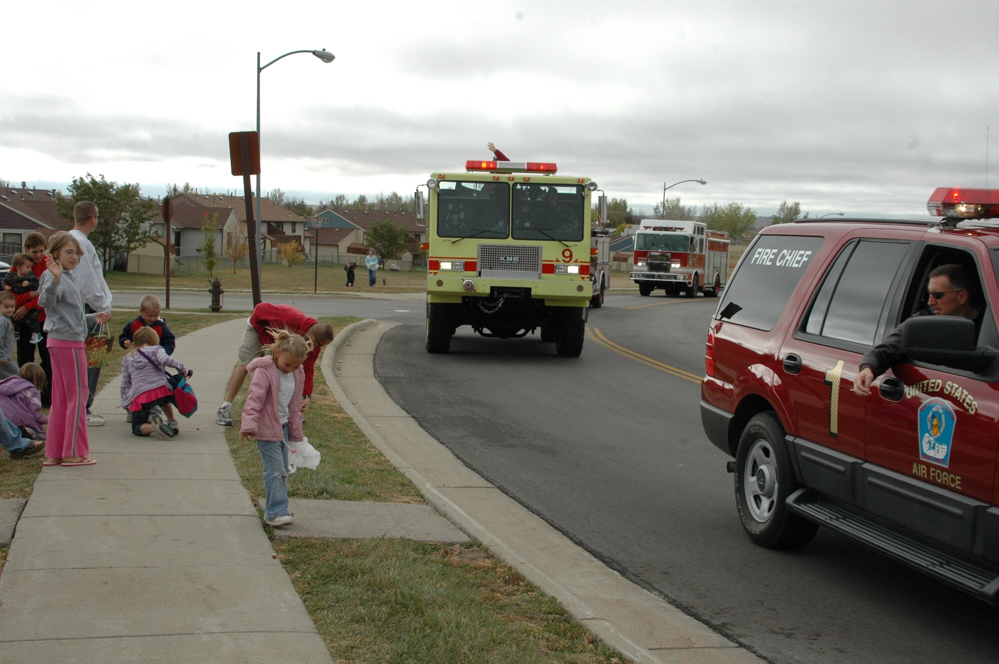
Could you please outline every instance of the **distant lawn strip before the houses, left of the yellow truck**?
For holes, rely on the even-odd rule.
[[[170,278],[170,288],[207,290],[209,283],[215,277],[219,278],[225,291],[250,291],[250,269],[238,268],[234,273],[232,268],[216,270],[210,278],[207,272],[186,275],[176,275]],[[167,280],[162,275],[136,275],[124,272],[109,272],[105,275],[108,286],[115,291],[162,291]],[[383,281],[385,284],[383,284]],[[345,287],[347,274],[343,265],[300,265],[289,268],[285,264],[265,263],[261,267],[261,283],[265,293],[364,293],[370,290],[368,286],[368,271],[357,270],[357,279],[353,289]],[[414,293],[427,290],[426,272],[391,272],[378,271],[378,283],[375,290],[381,293]]]

